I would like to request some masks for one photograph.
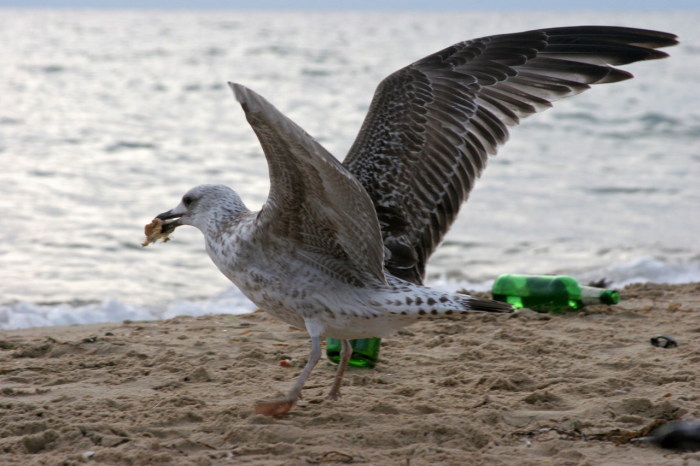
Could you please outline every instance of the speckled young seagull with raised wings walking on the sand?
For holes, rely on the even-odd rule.
[[[342,341],[328,398],[340,397],[349,340],[381,337],[421,319],[508,313],[509,304],[423,285],[425,266],[508,126],[632,75],[613,67],[668,55],[673,34],[576,26],[494,35],[429,55],[378,86],[359,135],[339,162],[263,97],[229,83],[267,159],[270,192],[258,212],[223,185],[190,189],[156,217],[167,236],[191,225],[245,296],[305,328],[308,363],[289,393],[256,413],[280,416],[301,398],[321,338]]]

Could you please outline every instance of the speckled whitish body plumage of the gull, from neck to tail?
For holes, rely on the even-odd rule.
[[[321,337],[357,339],[386,336],[424,317],[468,312],[470,297],[452,295],[391,275],[329,273],[289,238],[260,228],[256,213],[221,231],[211,222],[207,251],[219,270],[261,309]],[[481,300],[477,300],[481,301]],[[501,305],[502,310],[508,306]]]

